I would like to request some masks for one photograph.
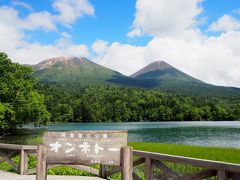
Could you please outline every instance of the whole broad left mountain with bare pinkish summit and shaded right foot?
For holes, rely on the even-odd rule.
[[[153,87],[153,82],[136,80],[96,64],[84,57],[55,57],[32,66],[33,76],[40,82],[79,88],[88,85],[112,84],[128,87]]]

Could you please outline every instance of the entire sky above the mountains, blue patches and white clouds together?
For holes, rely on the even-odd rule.
[[[240,87],[237,0],[0,0],[0,14],[0,51],[20,63],[85,56],[129,75],[165,60]]]

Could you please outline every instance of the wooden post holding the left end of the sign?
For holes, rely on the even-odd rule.
[[[47,149],[45,145],[37,148],[36,180],[47,180]]]

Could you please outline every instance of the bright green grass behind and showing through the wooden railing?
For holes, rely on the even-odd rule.
[[[179,155],[186,157],[195,157],[201,159],[209,159],[230,163],[240,164],[240,149],[234,148],[215,148],[215,147],[201,147],[201,146],[186,146],[186,145],[177,145],[177,144],[161,144],[161,143],[149,143],[149,142],[130,142],[129,146],[132,146],[135,150],[143,150],[150,152],[165,153],[171,155]],[[19,157],[15,157],[14,161],[18,164]],[[179,174],[193,173],[198,172],[201,168],[189,166],[189,165],[179,165],[173,163],[167,163],[169,167],[174,169]],[[36,166],[36,158],[31,156],[29,158],[29,168]],[[98,165],[95,165],[95,168],[99,168]],[[5,171],[14,172],[14,170],[7,163],[0,163],[0,169]],[[138,174],[143,175],[144,166],[138,168]],[[155,172],[161,173],[161,172]],[[48,174],[51,175],[81,175],[87,176],[89,173],[79,171],[70,167],[55,167],[48,170]],[[114,175],[112,179],[119,179],[120,175]]]

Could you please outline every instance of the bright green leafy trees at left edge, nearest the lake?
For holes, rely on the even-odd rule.
[[[12,63],[0,53],[0,134],[22,124],[49,122],[44,96],[34,88],[36,81],[31,74],[31,68]]]

